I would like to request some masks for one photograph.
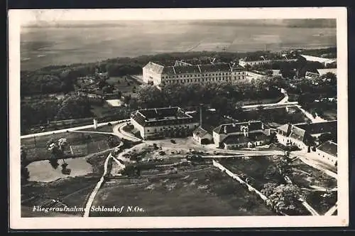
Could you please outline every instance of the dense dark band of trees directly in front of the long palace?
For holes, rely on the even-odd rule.
[[[129,104],[136,103],[138,107],[166,106],[197,106],[201,103],[210,104],[219,112],[229,114],[236,104],[242,100],[263,100],[281,97],[279,78],[251,80],[250,82],[210,82],[165,84],[161,89],[146,85],[138,88],[138,97],[132,98]],[[132,101],[133,100],[133,101]],[[131,105],[133,107],[133,105]]]

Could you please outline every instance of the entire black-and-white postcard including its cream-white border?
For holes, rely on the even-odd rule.
[[[348,225],[346,31],[344,8],[9,11],[11,227]]]

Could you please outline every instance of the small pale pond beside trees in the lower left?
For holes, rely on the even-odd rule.
[[[30,172],[29,181],[50,182],[58,178],[84,176],[92,173],[92,166],[87,163],[84,157],[65,159],[65,163],[67,163],[65,171],[62,171],[62,163],[64,163],[63,160],[58,160],[57,168],[53,168],[48,160],[30,163],[27,166]]]

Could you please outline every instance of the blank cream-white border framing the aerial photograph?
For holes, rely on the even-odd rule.
[[[38,14],[40,13],[40,14]],[[187,20],[337,18],[338,66],[338,215],[178,218],[21,218],[20,194],[20,27],[33,21],[65,20]],[[345,7],[268,9],[62,9],[9,11],[9,141],[11,229],[124,229],[196,227],[331,227],[349,225],[347,124],[347,18]]]

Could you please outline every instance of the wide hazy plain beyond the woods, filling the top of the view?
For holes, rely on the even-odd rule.
[[[241,21],[122,21],[21,28],[21,70],[186,51],[248,52],[336,45],[335,28],[249,26]],[[110,23],[110,22],[108,22]],[[132,30],[134,28],[134,30]],[[241,33],[243,32],[243,33]],[[322,37],[315,36],[322,33]]]

